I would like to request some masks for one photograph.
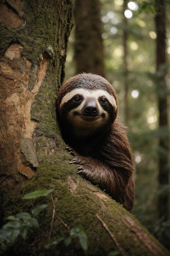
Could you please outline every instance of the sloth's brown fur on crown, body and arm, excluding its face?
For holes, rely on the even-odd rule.
[[[74,134],[74,127],[69,119],[64,105],[60,109],[60,103],[66,93],[83,83],[94,84],[95,90],[99,90],[101,84],[108,87],[108,92],[115,97],[117,108],[110,115],[110,122],[104,125],[104,129],[96,130],[93,136],[79,137]],[[94,90],[94,89],[93,89]],[[68,108],[68,107],[67,107]],[[64,112],[65,111],[65,112]],[[61,127],[62,136],[69,145],[67,150],[73,155],[71,164],[78,164],[79,174],[83,175],[93,184],[108,193],[117,202],[123,204],[130,211],[134,205],[134,181],[135,167],[126,135],[126,128],[117,117],[118,102],[115,90],[98,75],[80,74],[66,81],[61,87],[57,100],[57,117]],[[74,124],[75,125],[75,124]],[[93,131],[93,127],[91,128]]]

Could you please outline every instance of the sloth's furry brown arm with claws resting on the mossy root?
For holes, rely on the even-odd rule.
[[[118,173],[114,168],[98,159],[81,156],[69,146],[66,149],[73,155],[70,164],[78,165],[78,174],[83,175],[93,184],[98,184],[100,189],[108,193],[117,202],[123,204],[128,211],[132,209],[135,198],[132,177],[130,177],[128,184],[125,184],[121,173]]]

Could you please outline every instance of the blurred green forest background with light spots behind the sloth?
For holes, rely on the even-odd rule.
[[[75,1],[75,8],[79,3],[79,0]],[[170,2],[164,1],[164,3],[165,13],[162,15],[166,29],[164,33],[166,61],[159,66],[157,55],[161,55],[161,52],[157,52],[158,28],[155,21],[158,11],[162,8],[159,5],[160,1],[95,1],[95,4],[99,6],[101,21],[99,25],[102,27],[101,38],[104,49],[104,55],[100,50],[100,57],[104,62],[102,75],[108,79],[117,92],[119,116],[129,128],[128,137],[137,170],[135,175],[136,203],[132,213],[161,243],[170,248],[170,132],[168,121],[170,116]],[[93,9],[93,12],[95,10]],[[75,13],[75,23],[76,19]],[[158,23],[161,25],[160,17],[158,17]],[[76,52],[79,44],[76,38],[77,27],[79,27],[79,22],[73,27],[68,42],[65,79],[78,72],[95,72],[93,69],[86,69],[87,63],[83,64],[83,59],[80,60],[82,70],[76,66]],[[84,33],[87,32],[86,29],[87,27],[84,27]],[[89,30],[91,29],[89,25]],[[93,43],[88,47],[95,51]],[[85,54],[90,63],[91,56],[87,52]],[[100,74],[100,72],[97,73]],[[160,78],[165,85],[164,91],[160,84],[160,86],[157,85]],[[166,102],[163,115],[164,112],[167,113],[167,123],[162,126],[160,125],[160,98]],[[165,141],[165,144],[161,145],[160,141]],[[160,164],[162,153],[168,160],[166,175]],[[166,180],[164,184],[160,182],[161,173],[164,173]]]

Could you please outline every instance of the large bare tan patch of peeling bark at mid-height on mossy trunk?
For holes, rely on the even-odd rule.
[[[7,159],[6,166],[2,170],[3,174],[12,174],[15,166],[18,174],[31,178],[34,175],[34,168],[38,167],[38,159],[32,141],[33,130],[37,122],[31,119],[31,104],[46,74],[48,59],[43,58],[42,54],[36,81],[30,91],[28,84],[31,62],[22,56],[22,52],[22,45],[12,44],[7,48],[4,58],[0,61],[1,120],[3,120],[1,122],[0,144],[2,148],[0,152],[2,159]],[[24,155],[24,160],[21,153]],[[5,183],[3,186],[7,190],[10,186],[11,189],[8,180],[7,184]]]

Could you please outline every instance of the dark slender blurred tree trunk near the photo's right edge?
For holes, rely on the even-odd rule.
[[[159,218],[168,220],[168,204],[169,195],[166,187],[169,184],[169,135],[168,135],[168,103],[167,103],[167,87],[165,76],[167,74],[166,67],[166,15],[164,1],[155,1],[157,5],[157,16],[155,17],[155,25],[157,31],[156,39],[156,63],[157,63],[157,94],[159,109],[159,185],[163,191],[159,195],[158,212]]]

